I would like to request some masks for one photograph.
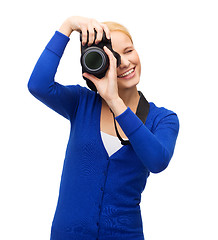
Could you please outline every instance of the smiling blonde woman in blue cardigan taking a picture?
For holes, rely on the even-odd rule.
[[[97,31],[94,39],[94,30]],[[73,31],[83,45],[111,39],[116,58],[109,57],[105,77],[84,73],[97,92],[54,81],[59,61]],[[88,43],[87,34],[89,35]],[[69,17],[40,56],[28,82],[40,101],[70,120],[52,240],[142,240],[141,193],[150,172],[163,171],[173,155],[179,131],[177,115],[149,103],[145,124],[136,115],[141,64],[125,27],[84,17]],[[114,115],[113,115],[114,114]],[[129,144],[122,146],[117,138]]]

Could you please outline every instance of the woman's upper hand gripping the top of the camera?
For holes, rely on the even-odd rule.
[[[97,31],[97,37],[95,39],[95,31]],[[80,16],[72,16],[67,18],[61,25],[59,32],[67,35],[68,37],[73,31],[82,32],[82,44],[87,42],[87,35],[89,34],[88,46],[92,45],[94,40],[95,44],[98,44],[102,40],[103,31],[105,31],[106,37],[111,38],[110,30],[106,24],[100,23],[93,18],[86,18]]]

